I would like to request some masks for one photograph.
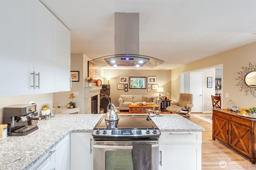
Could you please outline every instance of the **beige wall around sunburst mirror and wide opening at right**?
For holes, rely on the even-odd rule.
[[[222,108],[227,108],[229,100],[232,100],[234,104],[238,106],[238,109],[241,107],[255,106],[256,98],[253,98],[250,94],[245,96],[244,92],[239,92],[240,88],[236,86],[238,80],[235,80],[238,76],[237,72],[242,71],[241,67],[247,66],[248,62],[253,64],[256,62],[256,43],[251,43],[249,45],[232,49],[230,51],[173,69],[172,98],[177,98],[180,93],[176,90],[180,89],[180,73],[210,68],[223,64]],[[228,98],[225,97],[226,93],[229,95]]]

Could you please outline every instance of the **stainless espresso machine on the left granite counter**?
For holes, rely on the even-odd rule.
[[[38,129],[41,117],[36,104],[18,104],[4,107],[3,124],[8,124],[8,136],[24,136]]]

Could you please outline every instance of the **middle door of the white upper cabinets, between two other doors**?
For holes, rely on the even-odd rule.
[[[38,0],[34,1],[34,94],[56,92],[55,55],[57,18]],[[33,80],[33,78],[32,78]]]

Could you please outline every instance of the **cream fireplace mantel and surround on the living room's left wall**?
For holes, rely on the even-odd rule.
[[[101,86],[88,87],[88,84],[86,85],[87,86],[84,87],[84,113],[86,114],[91,113],[92,96],[96,96],[96,95],[98,95],[98,112],[99,112],[100,111],[100,90],[102,89],[102,87]]]

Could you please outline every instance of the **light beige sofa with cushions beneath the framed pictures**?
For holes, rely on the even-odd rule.
[[[154,95],[120,95],[119,102],[119,110],[129,110],[129,104],[139,104],[142,103],[142,99],[146,99],[146,104],[151,104],[154,102],[159,106],[161,106],[162,100],[158,98],[159,94]]]

